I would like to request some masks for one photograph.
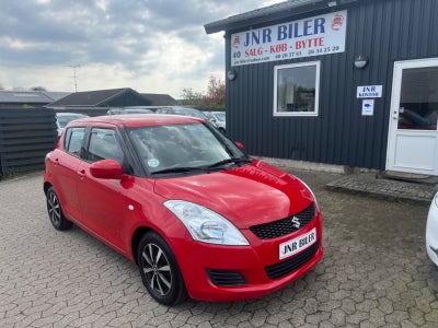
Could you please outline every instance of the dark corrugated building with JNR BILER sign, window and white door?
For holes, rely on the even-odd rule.
[[[438,1],[290,0],[224,32],[227,133],[249,153],[438,175]]]

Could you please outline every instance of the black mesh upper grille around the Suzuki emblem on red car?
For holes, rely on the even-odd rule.
[[[315,214],[314,203],[312,202],[307,209],[302,210],[301,212],[295,215],[269,223],[253,225],[250,226],[250,230],[261,239],[277,238],[291,234],[298,231],[299,229],[306,226],[310,221],[313,220],[314,214]],[[298,218],[300,222],[299,227],[297,227],[296,223],[292,222],[293,216]]]

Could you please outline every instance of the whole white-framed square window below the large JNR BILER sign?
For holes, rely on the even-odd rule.
[[[320,61],[274,67],[274,116],[318,116]]]

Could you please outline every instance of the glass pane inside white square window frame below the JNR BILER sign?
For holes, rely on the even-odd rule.
[[[316,66],[278,70],[277,113],[315,112]]]

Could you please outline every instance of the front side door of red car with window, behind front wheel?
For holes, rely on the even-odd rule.
[[[83,213],[83,227],[104,242],[125,253],[125,220],[129,214],[129,200],[125,196],[127,186],[118,179],[100,179],[90,174],[92,163],[101,160],[116,160],[124,164],[126,156],[117,130],[92,128],[87,149],[87,162],[78,172],[78,192]]]

